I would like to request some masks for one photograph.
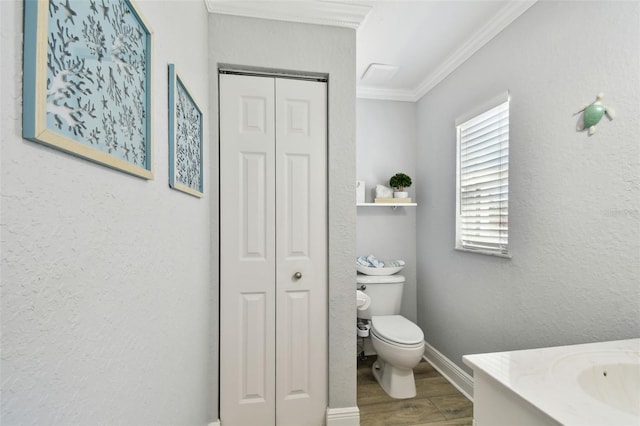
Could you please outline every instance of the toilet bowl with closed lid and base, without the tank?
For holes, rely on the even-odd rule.
[[[373,376],[392,398],[416,396],[413,368],[424,354],[422,330],[401,315],[371,317],[371,342],[378,354]]]

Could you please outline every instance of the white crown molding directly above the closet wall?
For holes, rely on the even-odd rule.
[[[209,13],[357,29],[370,6],[330,1],[205,0]]]

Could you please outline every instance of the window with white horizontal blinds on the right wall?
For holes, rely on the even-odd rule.
[[[456,122],[456,248],[509,257],[508,93],[489,105]]]

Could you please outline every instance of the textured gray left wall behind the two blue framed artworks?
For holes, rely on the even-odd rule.
[[[150,181],[21,138],[23,2],[0,2],[3,425],[209,420],[209,202],[168,187],[166,118],[169,62],[209,116],[207,12],[136,4],[154,31]]]

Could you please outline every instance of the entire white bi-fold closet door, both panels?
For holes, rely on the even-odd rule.
[[[220,74],[220,419],[327,407],[326,82]]]

